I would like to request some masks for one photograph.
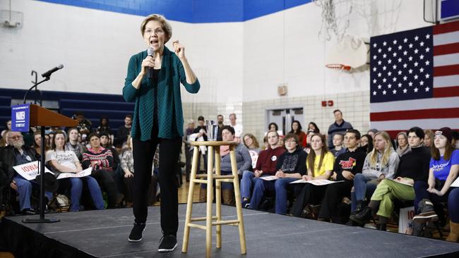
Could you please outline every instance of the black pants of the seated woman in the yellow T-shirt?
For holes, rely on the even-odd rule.
[[[304,207],[308,204],[320,204],[325,195],[327,185],[313,185],[305,183],[301,192],[297,195],[297,199],[293,203],[290,214],[293,216],[301,216]]]

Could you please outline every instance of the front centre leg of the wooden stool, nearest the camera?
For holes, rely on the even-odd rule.
[[[208,147],[207,161],[207,210],[205,219],[205,257],[212,254],[212,201],[213,201],[213,146]]]

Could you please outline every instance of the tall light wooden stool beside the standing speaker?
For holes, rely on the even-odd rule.
[[[194,146],[193,163],[191,165],[190,187],[188,193],[188,204],[186,205],[186,219],[184,228],[184,242],[181,247],[181,252],[188,250],[188,240],[190,235],[190,227],[201,228],[205,230],[205,257],[210,257],[212,252],[212,226],[217,226],[217,248],[222,247],[222,225],[231,224],[239,226],[239,241],[241,243],[241,254],[246,254],[246,236],[244,232],[244,220],[242,219],[242,204],[241,193],[239,190],[239,178],[237,176],[237,162],[234,148],[238,145],[237,142],[191,142]],[[220,174],[220,146],[229,145],[229,157],[231,159],[232,175],[222,176]],[[199,147],[208,147],[208,162],[207,174],[196,175],[198,169]],[[214,148],[217,147],[217,148]],[[215,173],[213,173],[213,162],[215,154]],[[207,179],[196,179],[207,178]],[[215,180],[215,215],[212,214],[212,199],[213,199],[213,180]],[[222,221],[222,192],[221,182],[229,182],[234,184],[234,197],[236,199],[237,220]],[[207,184],[207,211],[205,217],[191,218],[193,211],[193,188],[195,183]],[[205,221],[205,226],[191,223],[191,221]]]

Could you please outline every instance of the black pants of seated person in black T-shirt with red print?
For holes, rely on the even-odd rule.
[[[338,205],[341,203],[343,197],[350,197],[352,185],[354,185],[354,182],[350,180],[328,185],[318,217],[321,219],[332,219],[335,216],[339,216]]]

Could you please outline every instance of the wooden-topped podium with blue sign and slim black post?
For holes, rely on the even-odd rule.
[[[11,106],[11,130],[28,132],[31,126],[40,126],[42,146],[40,146],[40,175],[44,175],[44,127],[66,126],[76,127],[78,121],[45,109],[35,104],[20,104]],[[59,220],[44,219],[44,176],[40,176],[40,219],[24,219],[24,223],[52,223]]]

